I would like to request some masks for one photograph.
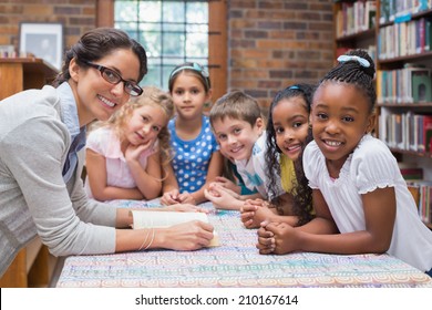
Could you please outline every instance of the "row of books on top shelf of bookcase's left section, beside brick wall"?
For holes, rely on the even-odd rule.
[[[346,37],[374,28],[376,1],[342,2],[336,17],[336,37]]]

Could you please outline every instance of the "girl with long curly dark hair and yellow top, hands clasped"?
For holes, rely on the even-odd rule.
[[[281,182],[287,194],[276,197],[271,204],[247,202],[241,209],[241,221],[247,228],[257,228],[265,219],[291,226],[300,226],[311,219],[311,189],[304,174],[301,157],[305,146],[311,141],[309,114],[312,92],[311,85],[297,84],[277,93],[271,102],[266,151],[268,190],[270,196],[276,197]]]

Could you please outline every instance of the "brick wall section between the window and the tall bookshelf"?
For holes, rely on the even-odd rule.
[[[296,82],[317,82],[332,65],[331,0],[229,0],[228,87],[268,106]]]

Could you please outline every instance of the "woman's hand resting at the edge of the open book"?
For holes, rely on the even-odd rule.
[[[158,244],[173,250],[197,250],[207,247],[213,239],[213,226],[200,220],[193,220],[156,231]]]

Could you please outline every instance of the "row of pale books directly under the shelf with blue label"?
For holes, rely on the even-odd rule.
[[[414,55],[432,50],[432,21],[426,18],[382,27],[378,38],[380,60]]]

